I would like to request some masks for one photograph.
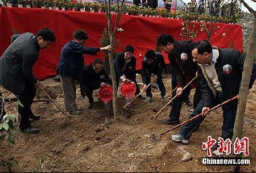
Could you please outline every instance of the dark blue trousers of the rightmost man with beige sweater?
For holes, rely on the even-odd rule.
[[[221,93],[217,93],[216,98],[213,101],[213,106],[217,106],[217,104],[220,104],[222,102],[224,102],[223,95]],[[234,122],[236,120],[237,104],[238,104],[238,100],[234,100],[233,102],[222,106],[223,125],[222,125],[222,136],[221,137],[224,140],[226,140],[227,138],[232,140]],[[189,119],[191,119],[192,117],[194,117],[196,115],[199,115],[202,112],[202,109],[203,109],[203,102],[202,102],[202,100],[200,100],[195,111],[189,116]],[[192,133],[195,132],[195,130],[200,126],[200,124],[202,123],[204,118],[205,118],[205,116],[202,116],[199,119],[196,119],[194,121],[191,121],[188,124],[185,124],[181,128],[179,134],[181,136],[183,136],[185,139],[189,140]]]

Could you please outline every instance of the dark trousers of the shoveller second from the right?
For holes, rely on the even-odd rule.
[[[172,74],[172,90],[174,90],[174,88],[176,88],[176,86],[177,86],[176,75]],[[172,101],[172,108],[171,108],[171,112],[170,112],[170,115],[169,115],[169,117],[171,119],[174,119],[174,120],[179,120],[180,119],[180,110],[181,110],[181,107],[182,107],[184,96],[188,96],[189,93],[190,93],[190,90],[191,90],[191,88],[189,88],[189,87],[186,88],[183,91],[183,94],[181,96],[177,97],[176,99],[174,99]],[[174,96],[176,96],[176,91],[174,91],[172,93],[172,98],[174,98]],[[200,87],[197,87],[196,91],[195,91],[195,94],[193,96],[194,109],[197,107],[197,104],[200,102],[200,99],[201,99],[201,91],[200,91]]]

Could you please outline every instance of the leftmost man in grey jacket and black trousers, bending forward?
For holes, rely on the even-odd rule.
[[[39,132],[30,123],[30,119],[40,119],[40,116],[35,116],[31,111],[36,87],[40,86],[32,73],[32,67],[39,58],[39,50],[48,48],[55,41],[54,33],[48,28],[40,29],[36,35],[13,35],[11,44],[0,58],[0,85],[13,92],[22,104],[18,107],[20,132]]]

